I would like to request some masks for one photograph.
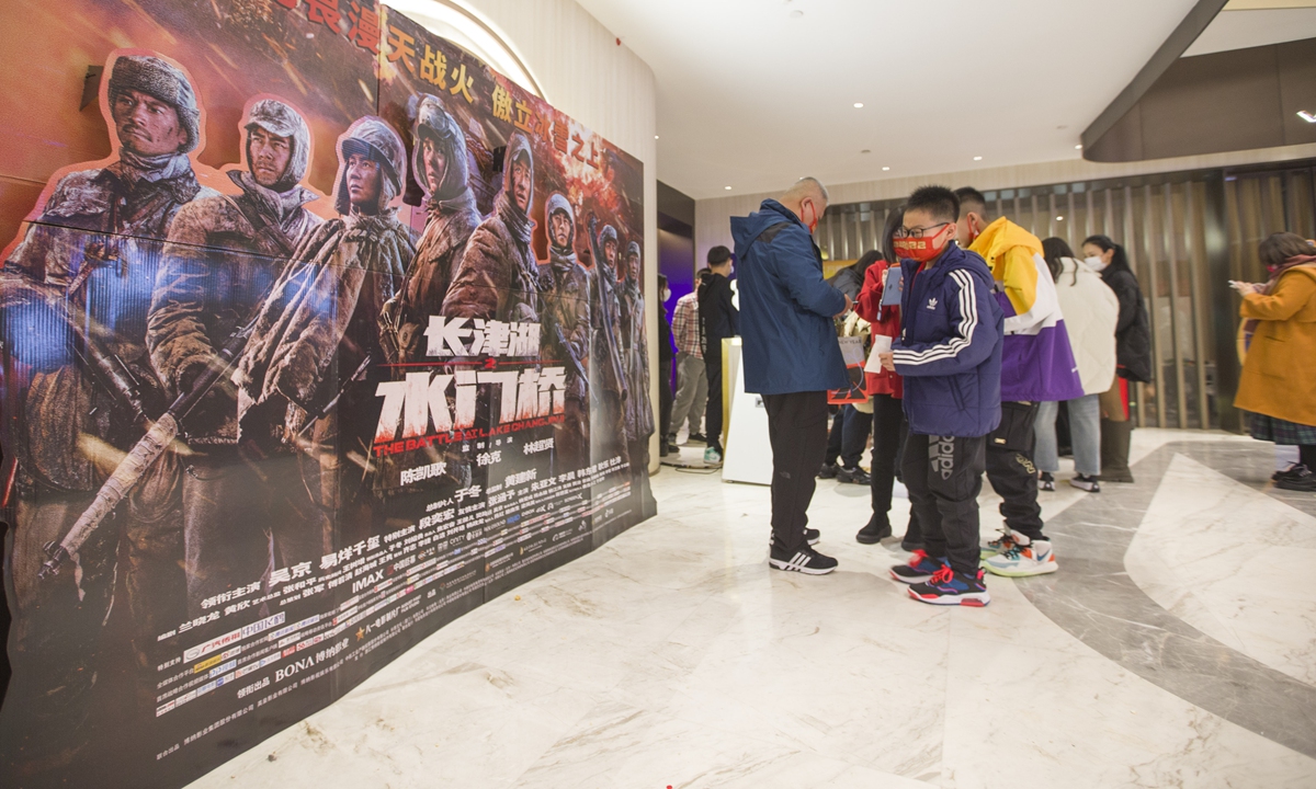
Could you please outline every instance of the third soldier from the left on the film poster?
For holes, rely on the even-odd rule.
[[[351,512],[340,523],[368,529],[384,483],[365,472],[375,388],[387,377],[379,372],[387,360],[379,316],[400,291],[416,246],[390,208],[407,166],[397,133],[382,118],[361,118],[338,138],[338,160],[341,216],[316,227],[275,281],[233,381],[240,441],[266,455],[300,454],[324,515]],[[290,527],[307,530],[290,542],[309,547],[320,521]],[[355,542],[354,534],[342,537]]]

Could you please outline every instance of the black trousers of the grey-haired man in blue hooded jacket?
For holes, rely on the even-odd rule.
[[[826,392],[763,394],[763,408],[772,444],[772,537],[794,554],[807,544],[805,513],[817,487],[813,477],[826,454]],[[713,438],[712,429],[708,438]]]

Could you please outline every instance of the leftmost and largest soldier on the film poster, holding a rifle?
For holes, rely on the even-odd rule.
[[[21,529],[8,558],[17,592],[14,682],[0,739],[30,764],[62,764],[87,740],[80,727],[121,535],[143,667],[154,668],[155,636],[184,617],[176,571],[182,544],[174,527],[176,464],[170,456],[83,546],[75,572],[37,579],[46,559],[42,546],[68,530],[104,483],[107,466],[113,468],[105,458],[132,448],[143,418],[163,410],[145,345],[161,246],[179,209],[215,195],[197,183],[188,159],[200,139],[201,112],[182,70],[157,57],[121,55],[105,89],[117,158],[59,179],[0,272],[5,342],[32,368],[20,394],[22,435],[11,444]],[[100,358],[136,381],[130,397],[78,360],[70,331],[79,325],[93,326],[91,342]]]

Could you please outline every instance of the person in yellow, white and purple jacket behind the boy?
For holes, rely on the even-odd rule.
[[[1055,552],[1042,533],[1037,504],[1033,423],[1041,402],[1082,397],[1083,381],[1042,242],[1005,217],[988,221],[987,200],[978,189],[955,189],[955,196],[959,246],[987,262],[1005,313],[1000,427],[987,437],[987,479],[1004,500],[1005,531],[983,544],[983,565],[1004,576],[1055,572]]]

